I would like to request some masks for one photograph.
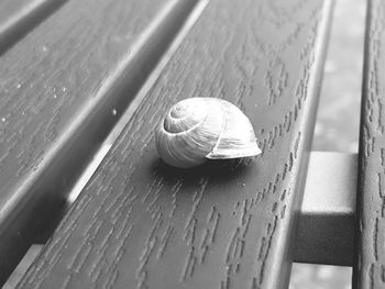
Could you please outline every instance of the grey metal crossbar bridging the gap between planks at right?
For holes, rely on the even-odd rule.
[[[356,154],[312,152],[295,260],[352,266]]]

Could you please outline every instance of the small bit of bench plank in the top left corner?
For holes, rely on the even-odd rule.
[[[0,54],[12,47],[67,0],[0,2]]]

